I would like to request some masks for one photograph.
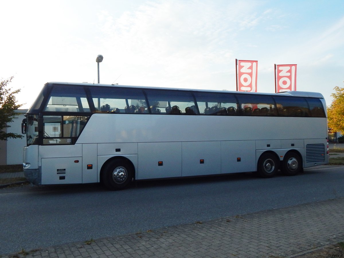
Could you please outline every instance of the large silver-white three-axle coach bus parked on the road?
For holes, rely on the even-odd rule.
[[[102,182],[278,170],[328,162],[319,93],[243,93],[46,83],[22,123],[33,184]]]

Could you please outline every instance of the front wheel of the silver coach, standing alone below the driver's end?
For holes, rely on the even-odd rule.
[[[126,160],[109,161],[102,174],[103,184],[110,190],[126,189],[133,178],[133,169]]]

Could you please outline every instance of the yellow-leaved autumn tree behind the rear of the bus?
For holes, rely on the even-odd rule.
[[[327,107],[327,123],[332,131],[344,134],[344,88],[336,86],[334,90],[333,101]]]

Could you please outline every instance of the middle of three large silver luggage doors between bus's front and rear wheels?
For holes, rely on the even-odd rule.
[[[220,141],[183,142],[182,149],[182,176],[221,172]]]

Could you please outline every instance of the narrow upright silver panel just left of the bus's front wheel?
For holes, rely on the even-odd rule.
[[[97,143],[83,144],[83,184],[98,182],[97,174]]]

